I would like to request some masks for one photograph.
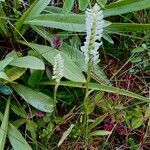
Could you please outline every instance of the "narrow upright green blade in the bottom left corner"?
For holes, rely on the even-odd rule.
[[[8,98],[5,114],[0,127],[0,150],[3,150],[5,145],[5,140],[6,140],[7,130],[8,130],[9,106],[10,106],[10,98]]]

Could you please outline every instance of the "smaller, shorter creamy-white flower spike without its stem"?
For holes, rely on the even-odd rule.
[[[61,57],[60,53],[54,58],[54,67],[53,67],[53,77],[56,82],[60,82],[61,78],[64,76],[64,60]]]

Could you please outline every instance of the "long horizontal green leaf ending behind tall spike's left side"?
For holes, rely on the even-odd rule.
[[[48,14],[30,18],[25,24],[50,27],[74,32],[85,32],[85,17],[76,14]]]

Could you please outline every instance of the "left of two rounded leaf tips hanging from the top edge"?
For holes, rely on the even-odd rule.
[[[72,10],[74,5],[74,0],[65,0],[63,5],[63,10],[67,14]]]

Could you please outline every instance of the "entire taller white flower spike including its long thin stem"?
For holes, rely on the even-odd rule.
[[[100,10],[99,5],[96,3],[93,8],[87,9],[86,12],[86,41],[81,51],[84,53],[85,63],[87,64],[87,80],[86,80],[86,93],[84,98],[84,127],[85,127],[85,150],[88,146],[88,96],[89,84],[91,79],[91,72],[94,66],[99,63],[98,49],[102,45],[102,33],[105,26],[103,20],[103,11]]]

